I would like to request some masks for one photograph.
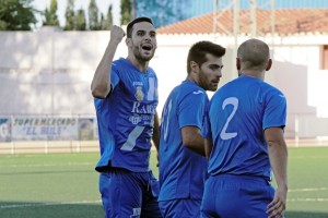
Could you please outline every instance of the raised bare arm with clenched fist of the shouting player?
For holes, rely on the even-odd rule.
[[[121,27],[116,25],[112,27],[109,43],[92,80],[91,92],[94,97],[106,98],[110,92],[112,62],[117,46],[125,35]]]

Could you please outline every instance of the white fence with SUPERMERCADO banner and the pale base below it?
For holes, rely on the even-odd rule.
[[[0,116],[0,154],[98,150],[94,116]]]

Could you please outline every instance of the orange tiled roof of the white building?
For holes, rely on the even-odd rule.
[[[321,33],[328,34],[328,9],[279,9],[274,10],[276,34],[293,35],[298,33]],[[233,11],[219,10],[218,22],[229,33],[233,33]],[[271,33],[271,10],[257,10],[257,34]],[[239,33],[250,33],[250,11],[239,11]],[[213,33],[213,13],[180,21],[178,23],[163,26],[157,29],[159,34],[211,34]],[[225,35],[219,25],[216,33]]]

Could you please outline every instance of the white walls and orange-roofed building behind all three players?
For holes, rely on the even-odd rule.
[[[233,33],[233,11],[229,10],[218,11],[215,34],[212,13],[159,28],[157,50],[150,62],[159,77],[157,111],[172,88],[186,78],[187,53],[194,43],[211,40],[226,48],[222,86],[237,76],[237,46],[258,37],[269,45],[273,60],[266,81],[288,99],[285,136],[328,137],[328,10],[279,9],[273,11],[274,19],[271,12],[256,10],[254,25],[250,11],[239,10],[238,34]],[[47,28],[0,33],[0,116],[93,114],[90,82],[109,36],[108,32]],[[125,43],[117,49],[115,58],[119,57],[127,57]]]

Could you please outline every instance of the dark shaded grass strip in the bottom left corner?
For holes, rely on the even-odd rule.
[[[0,203],[1,218],[102,218],[101,204]]]

